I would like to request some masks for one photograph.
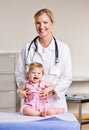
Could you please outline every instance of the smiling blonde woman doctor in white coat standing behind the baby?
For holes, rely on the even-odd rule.
[[[67,44],[57,40],[52,33],[54,19],[49,9],[41,9],[34,15],[38,36],[22,49],[16,68],[17,86],[26,82],[25,72],[32,62],[42,63],[44,79],[55,84],[50,104],[67,111],[65,93],[72,82],[71,54]],[[27,95],[25,90],[22,97]],[[48,98],[48,96],[46,97]]]

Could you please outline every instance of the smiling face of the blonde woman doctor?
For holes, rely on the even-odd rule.
[[[36,19],[35,26],[40,38],[52,35],[53,23],[46,13]]]

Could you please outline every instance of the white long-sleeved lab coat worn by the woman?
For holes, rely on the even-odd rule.
[[[72,82],[71,54],[69,47],[65,43],[56,41],[59,53],[58,63],[56,64],[54,39],[47,48],[43,48],[37,39],[37,52],[35,52],[34,43],[31,45],[29,52],[30,42],[24,46],[15,72],[16,82],[18,86],[26,82],[25,72],[28,64],[31,62],[42,63],[45,70],[44,79],[56,85],[55,94],[49,99],[50,104],[55,107],[63,107],[67,111],[65,93]]]

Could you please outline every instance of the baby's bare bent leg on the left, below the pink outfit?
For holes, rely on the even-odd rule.
[[[40,116],[40,112],[32,109],[30,107],[25,107],[23,109],[23,115],[27,115],[27,116]]]

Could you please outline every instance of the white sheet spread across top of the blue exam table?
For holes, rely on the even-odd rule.
[[[72,113],[63,113],[54,116],[47,116],[47,117],[40,117],[40,116],[23,116],[19,113],[7,113],[7,112],[0,112],[0,122],[25,122],[25,121],[36,121],[36,120],[43,120],[47,118],[57,117],[59,119],[65,121],[77,121],[76,118]]]

